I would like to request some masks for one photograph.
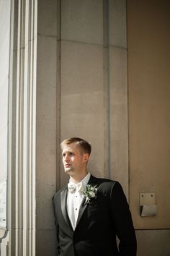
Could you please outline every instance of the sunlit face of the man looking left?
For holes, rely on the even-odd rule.
[[[62,157],[64,171],[71,176],[84,172],[86,163],[89,160],[89,154],[82,153],[80,147],[76,145],[76,143],[64,145]]]

